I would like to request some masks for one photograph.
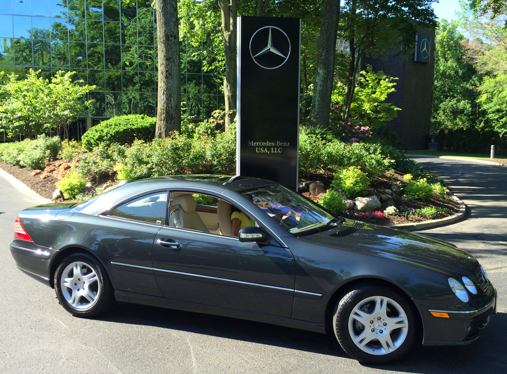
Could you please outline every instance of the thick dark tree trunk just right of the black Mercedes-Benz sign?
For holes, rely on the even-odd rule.
[[[335,73],[336,36],[340,1],[324,0],[318,41],[317,66],[313,84],[310,121],[314,126],[327,127],[331,106],[331,92]]]

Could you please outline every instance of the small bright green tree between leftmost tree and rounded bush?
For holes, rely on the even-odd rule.
[[[69,126],[79,115],[86,113],[93,100],[84,100],[95,86],[83,85],[83,80],[73,81],[76,72],[56,72],[47,87],[46,118],[60,137],[63,130],[67,143],[70,141]]]

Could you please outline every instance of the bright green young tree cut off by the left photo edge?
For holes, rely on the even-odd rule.
[[[4,79],[4,72],[0,72]],[[34,139],[50,128],[48,112],[48,81],[40,72],[30,69],[26,79],[20,80],[12,73],[9,80],[0,86],[0,123],[9,137],[24,135]]]

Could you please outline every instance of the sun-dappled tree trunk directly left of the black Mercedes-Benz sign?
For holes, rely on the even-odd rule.
[[[222,15],[222,36],[225,52],[225,127],[229,128],[236,117],[236,18],[237,0],[218,0]]]

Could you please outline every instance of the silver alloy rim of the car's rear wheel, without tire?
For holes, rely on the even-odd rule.
[[[97,273],[86,262],[71,262],[62,272],[61,291],[65,300],[74,308],[81,311],[90,309],[101,291]]]

